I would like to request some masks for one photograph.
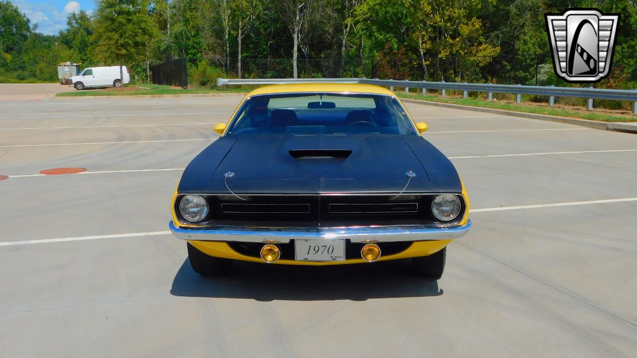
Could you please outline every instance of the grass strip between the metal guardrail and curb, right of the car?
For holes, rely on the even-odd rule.
[[[422,101],[463,104],[465,106],[495,108],[497,110],[537,113],[542,115],[555,115],[559,117],[597,120],[600,122],[637,122],[637,116],[623,115],[619,113],[618,114],[599,113],[599,112],[587,111],[587,110],[580,111],[580,110],[575,110],[571,108],[541,106],[539,104],[530,104],[530,103],[524,103],[524,102],[521,104],[517,104],[517,103],[508,103],[503,101],[486,101],[484,99],[475,99],[475,98],[467,98],[467,99],[450,98],[450,97],[435,96],[431,94],[427,94],[427,95],[411,94],[411,93],[410,94],[396,93],[396,94],[397,96],[401,98],[420,99]]]

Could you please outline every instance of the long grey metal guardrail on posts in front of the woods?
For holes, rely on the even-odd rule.
[[[585,87],[554,87],[554,86],[526,86],[526,85],[494,85],[491,83],[457,83],[457,82],[426,82],[426,81],[399,81],[399,80],[377,80],[369,78],[264,78],[264,79],[227,79],[217,78],[217,85],[272,85],[283,83],[366,83],[369,85],[379,85],[389,87],[404,87],[405,92],[410,88],[422,89],[424,93],[427,89],[441,90],[442,96],[447,90],[458,90],[463,92],[463,97],[467,98],[469,92],[487,92],[489,100],[494,93],[508,93],[516,95],[516,102],[522,102],[522,94],[534,96],[548,96],[548,104],[555,104],[555,97],[578,97],[588,99],[587,108],[593,109],[594,99],[609,99],[613,101],[633,102],[633,113],[637,114],[637,90],[613,90],[594,89]]]

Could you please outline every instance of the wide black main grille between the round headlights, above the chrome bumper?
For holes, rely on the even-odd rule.
[[[183,194],[182,194],[183,195]],[[276,227],[351,227],[440,225],[431,213],[436,194],[374,195],[242,195],[243,201],[231,195],[204,195],[210,205],[208,216],[200,222],[217,226]],[[175,212],[180,217],[178,203]]]

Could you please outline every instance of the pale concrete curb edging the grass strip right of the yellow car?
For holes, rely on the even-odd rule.
[[[485,112],[485,113],[494,113],[499,115],[510,115],[513,117],[548,120],[549,122],[559,122],[564,124],[581,125],[582,127],[601,129],[602,131],[637,133],[637,125],[624,124],[621,122],[599,122],[597,120],[558,117],[554,115],[541,115],[536,113],[526,113],[526,112],[517,112],[517,111],[508,111],[508,110],[496,110],[495,108],[483,108],[483,107],[466,106],[464,104],[422,101],[420,99],[401,98],[401,101],[406,103],[419,103],[419,104],[426,103],[431,106],[454,108],[456,110],[469,110],[469,111],[477,111],[477,112]]]

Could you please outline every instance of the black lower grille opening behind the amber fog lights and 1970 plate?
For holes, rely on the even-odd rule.
[[[257,257],[260,258],[261,248],[264,244],[262,243],[238,243],[238,242],[229,242],[228,245],[236,252],[242,255]],[[360,259],[361,258],[361,248],[365,245],[364,243],[352,243],[350,240],[345,240],[345,259]],[[390,242],[390,243],[377,243],[378,247],[380,247],[380,251],[383,256],[398,254],[399,252],[403,252],[407,250],[410,246],[412,246],[411,241],[398,241],[398,242]],[[294,260],[294,240],[290,240],[289,243],[280,243],[276,244],[281,250],[281,259],[283,260]]]

